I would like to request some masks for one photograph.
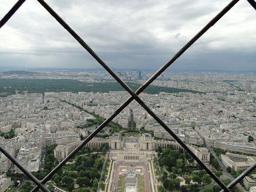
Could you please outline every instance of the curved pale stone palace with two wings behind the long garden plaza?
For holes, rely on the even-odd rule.
[[[59,160],[64,159],[82,142],[83,141],[70,143],[67,145],[58,145],[54,149],[54,157]],[[94,137],[85,145],[85,147],[99,148],[102,143],[108,143],[108,146],[111,149],[111,158],[124,162],[134,160],[145,162],[151,160],[154,158],[155,149],[157,149],[159,146],[162,149],[166,149],[168,146],[170,146],[175,151],[183,149],[181,145],[177,143],[177,141],[154,140],[150,134],[143,134],[143,136],[139,139],[127,139],[121,136],[121,133],[114,133],[109,139]],[[201,161],[203,161],[205,164],[209,164],[210,153],[207,148],[198,148],[195,145],[187,145]]]

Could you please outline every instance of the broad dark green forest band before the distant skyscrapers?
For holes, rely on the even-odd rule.
[[[133,91],[137,90],[142,84],[126,82]],[[108,93],[109,91],[125,91],[125,89],[117,82],[101,82],[101,83],[84,83],[73,79],[0,79],[0,96],[13,95],[17,92],[23,93],[44,93],[44,92],[100,92]],[[172,87],[160,87],[149,85],[144,91],[149,94],[179,93],[179,92],[202,92],[178,89]]]

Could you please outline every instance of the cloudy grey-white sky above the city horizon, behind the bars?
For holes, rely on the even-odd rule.
[[[0,0],[0,17],[17,0]],[[157,70],[231,0],[46,0],[112,68]],[[0,66],[99,68],[38,3],[0,29]],[[240,0],[169,70],[256,70],[256,11]]]

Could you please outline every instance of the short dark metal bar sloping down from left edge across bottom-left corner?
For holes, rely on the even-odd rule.
[[[23,173],[26,174],[26,176],[29,177],[37,186],[38,188],[41,188],[44,192],[50,192],[49,189],[46,188],[43,184],[41,184],[41,181],[39,181],[34,175],[32,175],[29,171],[27,171],[21,164],[18,162],[14,157],[12,157],[11,154],[9,154],[8,151],[6,151],[5,148],[0,146],[0,151],[14,163]]]

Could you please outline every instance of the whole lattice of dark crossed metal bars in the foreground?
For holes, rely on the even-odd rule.
[[[10,9],[10,11],[3,17],[2,20],[0,20],[0,28],[12,17],[12,15],[15,14],[17,9],[20,8],[20,6],[25,2],[26,0],[18,0],[17,3]],[[64,166],[68,160],[70,160],[81,148],[83,148],[93,137],[96,136],[96,134],[99,133],[99,131],[102,130],[106,125],[108,125],[111,120],[113,120],[125,107],[127,107],[133,100],[136,100],[144,109],[147,111],[166,131],[169,132],[169,134],[172,135],[172,137],[180,143],[180,145],[198,162],[199,165],[201,165],[204,170],[215,180],[216,183],[218,183],[219,186],[226,192],[230,192],[230,189],[235,186],[239,181],[241,181],[246,175],[248,175],[251,171],[253,171],[256,168],[256,163],[248,168],[245,172],[243,172],[239,177],[237,177],[233,182],[231,182],[228,186],[225,186],[224,183],[221,182],[221,180],[212,173],[211,170],[207,168],[207,166],[186,146],[183,141],[180,140],[179,137],[147,106],[145,103],[140,99],[138,96],[140,93],[143,92],[143,90],[148,87],[155,79],[157,79],[158,76],[160,76],[161,73],[163,73],[177,58],[179,58],[192,44],[194,44],[198,38],[200,38],[211,26],[213,26],[223,15],[225,15],[239,0],[232,0],[221,12],[218,13],[207,25],[201,29],[200,32],[198,32],[197,35],[195,35],[186,45],[184,45],[166,64],[163,65],[156,73],[154,73],[153,76],[151,76],[150,79],[148,79],[137,91],[132,91],[130,87],[128,87],[127,84],[125,84],[122,79],[119,78],[119,76],[116,75],[116,73],[111,70],[110,67],[108,67],[107,64],[105,64],[104,61],[102,61],[101,58],[91,49],[80,37],[79,35],[74,32],[70,26],[65,23],[64,20],[61,19],[61,17],[58,16],[56,12],[44,1],[44,0],[38,0],[38,2],[49,12],[49,14],[54,17],[58,23],[61,24],[69,33],[72,35],[76,41],[79,42],[79,44],[84,47],[84,49],[87,50],[87,52],[90,53],[90,55],[95,58],[96,61],[98,61],[99,64],[102,65],[102,67],[105,68],[108,73],[113,76],[113,78],[119,82],[119,84],[122,85],[122,87],[125,88],[125,90],[131,95],[129,99],[127,99],[108,119],[106,119],[93,133],[91,133],[74,151],[72,151],[64,160],[61,161],[61,163],[58,164],[46,177],[44,177],[43,180],[38,180],[36,177],[34,177],[29,171],[27,171],[12,155],[10,155],[3,147],[0,146],[0,151],[6,155],[24,174],[26,174],[37,186],[32,189],[32,191],[37,191],[38,189],[43,190],[44,192],[49,192],[49,189],[44,186],[45,183],[47,183],[48,180],[51,179],[51,177],[59,170],[62,166]],[[255,0],[247,0],[248,3],[256,10],[256,2]]]

